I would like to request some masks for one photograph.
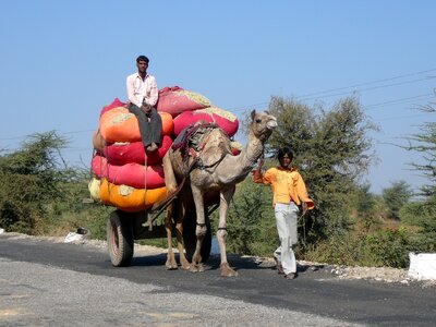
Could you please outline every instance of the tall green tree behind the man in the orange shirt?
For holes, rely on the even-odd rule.
[[[307,241],[343,233],[351,228],[350,194],[374,159],[367,132],[376,130],[355,97],[332,108],[312,109],[293,99],[272,97],[269,111],[278,128],[269,138],[269,152],[290,146],[293,165],[306,181],[315,209],[307,223]]]

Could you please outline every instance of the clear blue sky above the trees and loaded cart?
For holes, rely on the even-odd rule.
[[[0,148],[34,133],[69,140],[63,157],[89,167],[101,108],[126,100],[135,59],[158,87],[199,93],[240,119],[271,96],[330,108],[350,95],[368,118],[374,193],[425,183],[402,149],[435,119],[436,1],[0,1]],[[240,132],[239,132],[240,133]],[[242,133],[242,132],[241,132]],[[240,140],[243,135],[237,134]]]

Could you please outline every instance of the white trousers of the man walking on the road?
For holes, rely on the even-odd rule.
[[[277,203],[274,211],[280,239],[280,246],[274,252],[274,256],[281,263],[286,275],[295,272],[296,261],[292,245],[299,241],[296,233],[299,207],[293,202],[289,205]]]

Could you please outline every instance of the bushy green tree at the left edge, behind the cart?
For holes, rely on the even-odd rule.
[[[75,177],[60,154],[65,144],[56,132],[34,134],[0,157],[0,226],[35,233],[37,222],[65,197],[65,183]]]

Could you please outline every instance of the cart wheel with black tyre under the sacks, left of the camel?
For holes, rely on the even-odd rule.
[[[129,266],[133,257],[133,230],[129,217],[119,210],[112,211],[108,219],[107,241],[110,261],[114,267]]]

